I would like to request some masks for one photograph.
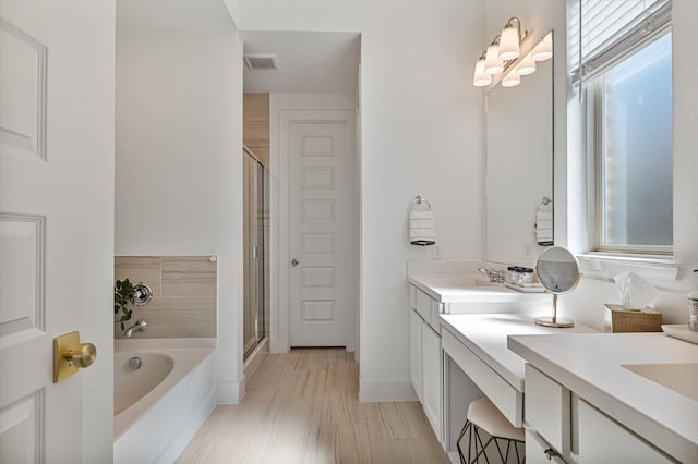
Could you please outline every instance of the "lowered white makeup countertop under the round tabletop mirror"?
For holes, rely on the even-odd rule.
[[[520,392],[526,362],[507,347],[507,335],[594,332],[585,326],[567,329],[538,326],[532,317],[520,314],[442,314],[440,318],[444,329]]]

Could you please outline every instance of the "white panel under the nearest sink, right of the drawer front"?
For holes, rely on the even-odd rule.
[[[579,401],[579,461],[594,464],[673,462],[586,401]]]

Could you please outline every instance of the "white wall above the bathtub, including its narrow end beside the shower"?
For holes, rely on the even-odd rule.
[[[218,401],[242,377],[242,42],[222,2],[118,2],[116,254],[218,256]]]

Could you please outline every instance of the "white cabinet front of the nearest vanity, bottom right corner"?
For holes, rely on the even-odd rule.
[[[528,463],[675,462],[530,364],[525,407]]]

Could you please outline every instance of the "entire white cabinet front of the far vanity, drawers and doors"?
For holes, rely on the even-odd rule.
[[[441,304],[410,285],[410,379],[436,438],[443,443]]]

